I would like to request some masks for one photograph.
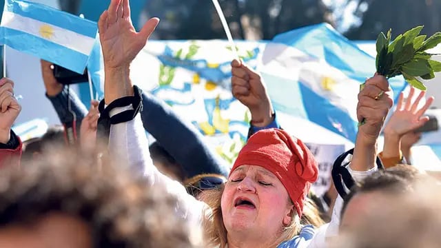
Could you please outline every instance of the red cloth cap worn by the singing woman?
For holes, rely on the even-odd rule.
[[[302,216],[311,183],[318,177],[317,162],[302,141],[283,130],[260,130],[240,150],[230,175],[240,165],[257,165],[276,175]]]

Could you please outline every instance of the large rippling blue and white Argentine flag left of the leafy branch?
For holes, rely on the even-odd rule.
[[[372,56],[330,25],[318,24],[276,36],[262,62],[276,110],[355,141],[357,94],[360,83],[376,72]],[[395,96],[407,85],[398,77],[389,83]]]

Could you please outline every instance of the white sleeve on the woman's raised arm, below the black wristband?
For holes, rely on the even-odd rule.
[[[109,151],[119,163],[124,163],[147,177],[151,185],[163,187],[178,198],[176,213],[185,218],[189,225],[201,226],[203,210],[208,206],[187,194],[181,183],[156,169],[150,158],[147,137],[139,114],[132,121],[111,125]]]

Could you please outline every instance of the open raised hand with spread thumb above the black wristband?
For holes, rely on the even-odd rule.
[[[104,101],[110,104],[123,96],[132,96],[130,63],[147,43],[159,19],[152,18],[136,32],[130,19],[129,0],[112,0],[98,21],[104,59]]]

